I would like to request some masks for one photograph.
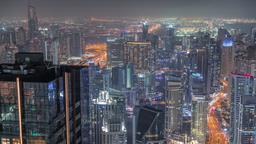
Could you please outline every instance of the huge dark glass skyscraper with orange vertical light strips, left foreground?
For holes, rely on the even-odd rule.
[[[1,64],[1,142],[81,143],[89,134],[87,67],[46,64],[43,53],[15,58]]]

